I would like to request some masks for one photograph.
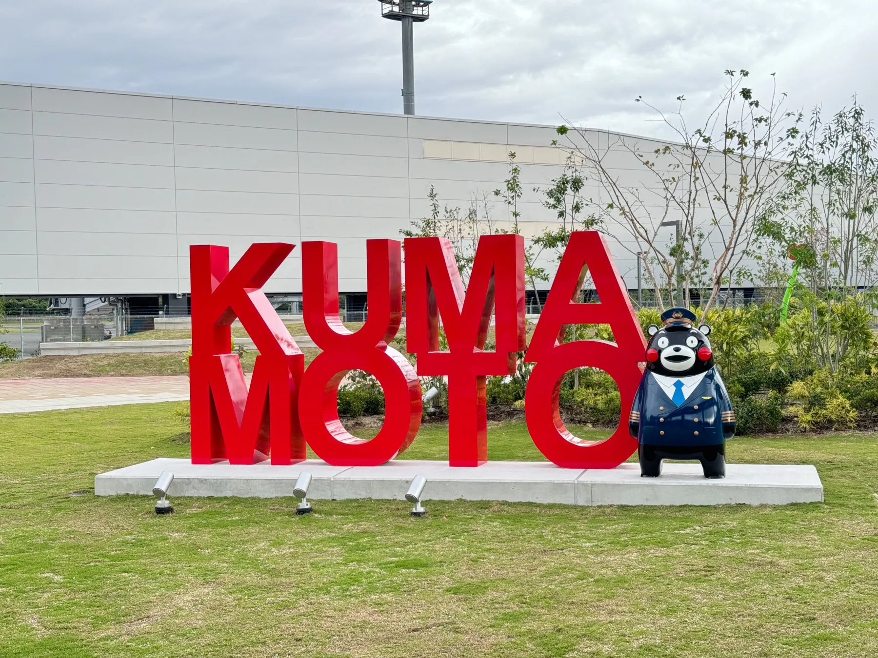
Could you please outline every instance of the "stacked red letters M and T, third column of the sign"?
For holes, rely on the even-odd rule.
[[[496,348],[486,352],[495,306]],[[448,352],[439,351],[440,314]],[[406,340],[419,375],[448,375],[450,465],[485,463],[485,375],[514,374],[525,347],[524,239],[483,235],[464,294],[449,240],[407,238]]]

